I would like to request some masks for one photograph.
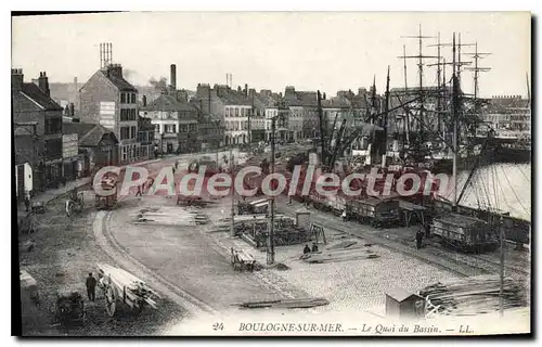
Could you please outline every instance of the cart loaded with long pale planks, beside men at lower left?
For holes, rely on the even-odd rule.
[[[99,264],[98,275],[107,314],[115,314],[118,301],[131,307],[137,314],[141,313],[145,306],[156,308],[155,299],[159,298],[158,294],[133,274],[106,264]]]

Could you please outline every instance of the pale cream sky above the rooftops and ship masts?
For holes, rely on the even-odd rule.
[[[198,82],[283,91],[357,91],[375,77],[383,92],[390,66],[390,87],[404,86],[406,55],[418,54],[415,36],[441,42],[461,33],[462,43],[489,52],[479,65],[491,67],[479,78],[481,97],[527,95],[531,69],[530,14],[527,12],[129,12],[13,17],[12,67],[25,80],[47,72],[50,82],[85,82],[100,68],[100,43],[113,43],[113,61],[138,86],[169,78],[177,65],[177,86],[195,90]],[[436,55],[424,39],[423,54]],[[451,62],[450,47],[442,55]],[[474,47],[462,48],[462,60]],[[427,60],[427,64],[436,60]],[[409,87],[418,86],[417,60],[406,66]],[[474,64],[474,63],[473,63]],[[451,76],[451,67],[447,77]],[[424,85],[436,83],[436,67],[424,67]],[[473,92],[473,73],[462,73],[462,88]]]

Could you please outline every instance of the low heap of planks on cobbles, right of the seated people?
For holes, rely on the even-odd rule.
[[[322,252],[311,252],[300,257],[309,264],[338,262],[360,259],[375,259],[379,256],[356,241],[344,241]]]

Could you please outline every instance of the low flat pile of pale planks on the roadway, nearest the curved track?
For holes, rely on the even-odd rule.
[[[180,207],[144,208],[133,217],[136,224],[198,226],[209,222],[207,215]]]

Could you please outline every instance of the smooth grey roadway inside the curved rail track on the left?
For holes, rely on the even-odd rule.
[[[175,200],[164,196],[151,198],[151,206],[175,205]],[[113,214],[108,223],[113,236],[131,256],[183,291],[218,310],[243,300],[284,297],[255,275],[235,272],[228,250],[206,236],[203,228],[133,224],[134,214],[145,204],[131,203]]]

